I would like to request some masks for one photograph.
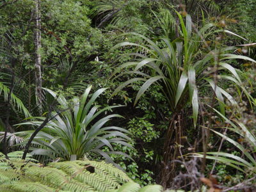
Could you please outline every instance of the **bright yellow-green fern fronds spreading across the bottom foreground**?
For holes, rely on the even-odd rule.
[[[0,191],[51,192],[162,192],[158,185],[141,188],[127,175],[104,161],[64,161],[36,164],[19,157],[22,152],[0,152]],[[167,192],[167,191],[166,191]]]

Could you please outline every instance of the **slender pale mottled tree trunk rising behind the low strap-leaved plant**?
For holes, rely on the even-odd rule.
[[[40,115],[42,115],[42,71],[41,71],[41,13],[40,0],[35,0],[35,95]]]

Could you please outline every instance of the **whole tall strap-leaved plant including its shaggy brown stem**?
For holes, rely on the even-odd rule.
[[[117,49],[124,46],[134,46],[138,48],[138,51],[143,52],[143,54],[138,52],[130,54],[131,56],[135,56],[135,59],[117,67],[112,76],[115,79],[126,76],[127,74],[133,74],[136,77],[118,86],[115,92],[113,92],[113,95],[129,84],[142,81],[144,83],[136,95],[135,105],[141,95],[152,84],[161,84],[163,86],[161,91],[165,95],[168,106],[173,114],[163,148],[164,168],[162,169],[161,182],[163,185],[164,182],[170,183],[170,180],[172,180],[175,174],[175,169],[169,165],[177,157],[179,150],[178,147],[174,147],[175,150],[172,152],[170,145],[171,141],[173,145],[175,145],[174,143],[177,146],[181,144],[179,138],[182,136],[180,135],[182,130],[175,133],[174,122],[179,122],[179,116],[182,114],[185,106],[189,105],[193,109],[193,125],[196,127],[199,104],[203,102],[203,100],[200,100],[200,88],[203,88],[205,85],[209,84],[212,88],[212,94],[216,96],[222,114],[225,113],[224,97],[227,97],[232,104],[236,104],[232,95],[218,85],[218,78],[235,84],[238,90],[243,90],[242,92],[248,99],[252,100],[252,97],[244,88],[243,82],[239,77],[239,73],[241,72],[232,67],[229,62],[234,59],[256,62],[246,56],[230,53],[236,50],[236,47],[227,47],[224,45],[217,46],[216,44],[213,51],[210,50],[204,54],[202,49],[207,47],[205,45],[206,40],[208,37],[212,37],[214,33],[236,34],[226,29],[216,29],[217,26],[214,24],[207,24],[200,30],[196,29],[194,33],[191,17],[186,15],[185,24],[182,15],[180,13],[177,13],[177,15],[179,16],[180,22],[180,29],[178,30],[180,31],[180,36],[172,42],[167,37],[161,38],[161,42],[154,42],[146,36],[137,33],[125,33],[123,34],[125,36],[138,36],[144,40],[145,44],[122,42],[113,47],[113,49]],[[211,70],[208,71],[208,68],[211,68]],[[169,172],[173,172],[173,175],[167,174]]]

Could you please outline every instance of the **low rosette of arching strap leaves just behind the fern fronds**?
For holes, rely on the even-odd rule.
[[[55,92],[47,90],[58,100],[60,110],[63,110],[63,112],[60,115],[55,111],[52,112],[51,115],[54,118],[36,135],[33,140],[34,147],[31,147],[31,154],[48,156],[52,159],[61,157],[65,160],[81,159],[83,157],[92,158],[100,155],[112,163],[109,154],[126,156],[122,152],[115,152],[111,143],[120,143],[131,147],[126,142],[129,137],[124,134],[129,132],[120,127],[106,126],[106,123],[112,118],[122,116],[116,114],[101,116],[109,109],[120,106],[108,106],[100,109],[100,105],[93,104],[106,88],[97,90],[87,101],[91,88],[92,86],[89,86],[80,99],[74,97],[71,107],[63,96],[57,96]],[[42,124],[45,117],[37,117],[37,119],[19,125],[35,125],[37,127]],[[25,131],[16,134],[30,136],[32,132]],[[108,152],[102,150],[104,146],[109,148]]]

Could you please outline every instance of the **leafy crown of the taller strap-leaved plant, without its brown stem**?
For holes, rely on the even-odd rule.
[[[163,38],[164,48],[159,47],[152,40],[147,37],[137,34],[137,33],[125,33],[124,35],[136,35],[140,38],[143,38],[147,44],[134,44],[131,42],[122,42],[115,45],[113,49],[122,47],[125,45],[132,45],[141,48],[146,54],[133,53],[137,58],[140,58],[136,61],[131,61],[120,65],[113,76],[121,72],[117,77],[123,76],[124,74],[138,74],[142,76],[141,78],[134,78],[126,81],[124,84],[121,84],[116,88],[113,95],[122,90],[125,86],[134,83],[136,81],[145,81],[141,86],[134,105],[140,99],[141,95],[148,89],[148,87],[153,83],[163,84],[162,92],[166,95],[167,102],[170,106],[170,109],[175,112],[179,112],[185,104],[191,102],[193,106],[193,118],[194,125],[196,125],[196,120],[198,116],[198,86],[209,83],[216,93],[216,97],[220,100],[221,112],[224,111],[223,104],[223,95],[227,99],[231,100],[234,103],[231,95],[229,95],[225,90],[222,90],[216,84],[214,84],[214,79],[211,78],[212,73],[204,73],[208,67],[218,67],[219,71],[227,70],[230,73],[230,76],[220,76],[223,79],[230,80],[232,83],[236,83],[246,95],[251,99],[250,95],[244,89],[244,86],[237,74],[237,69],[232,67],[227,63],[231,59],[242,59],[256,62],[251,58],[246,56],[240,56],[236,54],[228,54],[230,50],[236,49],[236,47],[224,47],[218,50],[209,52],[208,54],[202,55],[202,47],[205,44],[205,39],[207,36],[211,35],[214,32],[220,32],[221,30],[213,30],[214,24],[207,24],[200,31],[193,34],[192,33],[192,22],[189,15],[186,16],[186,25],[182,19],[182,16],[179,15],[180,24],[181,24],[181,37],[176,38],[173,42],[170,42],[168,38]],[[223,32],[232,33],[228,30],[223,30]],[[218,62],[218,63],[217,63]],[[131,72],[122,72],[124,68],[134,67],[134,70]],[[149,74],[141,72],[141,68],[147,67],[150,70]],[[221,74],[218,72],[218,74]],[[189,96],[189,97],[188,97]],[[189,100],[188,100],[189,99]]]

